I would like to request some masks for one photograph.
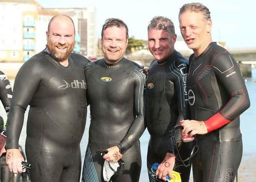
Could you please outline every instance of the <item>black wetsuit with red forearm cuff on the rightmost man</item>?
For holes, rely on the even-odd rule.
[[[208,130],[196,136],[194,181],[234,181],[242,157],[239,115],[250,106],[239,65],[212,42],[198,57],[190,56],[187,90],[191,118]]]

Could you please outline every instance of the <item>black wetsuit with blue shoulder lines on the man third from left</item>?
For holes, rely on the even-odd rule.
[[[154,175],[152,165],[155,162],[161,163],[166,152],[172,151],[169,131],[178,121],[189,118],[187,66],[188,61],[174,50],[166,60],[154,60],[149,67],[145,91],[145,120],[150,134],[147,156],[150,182],[162,181]],[[183,152],[186,155],[185,149]],[[176,161],[176,166],[178,165],[180,163]],[[181,173],[183,182],[189,181],[190,167],[179,167],[174,170]]]

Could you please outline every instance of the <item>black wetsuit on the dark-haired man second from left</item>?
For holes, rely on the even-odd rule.
[[[112,182],[138,182],[141,169],[139,138],[145,130],[145,72],[136,63],[122,58],[115,64],[104,59],[85,68],[91,122],[84,159],[83,182],[103,182],[104,159],[96,154],[100,149],[120,144],[124,174]]]

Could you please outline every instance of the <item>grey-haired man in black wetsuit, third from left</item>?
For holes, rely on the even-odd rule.
[[[148,25],[148,49],[155,60],[148,71],[145,120],[150,133],[147,167],[150,182],[166,181],[175,164],[170,130],[188,119],[186,76],[188,61],[174,49],[177,35],[172,20],[154,17]],[[152,165],[160,163],[157,171]],[[177,165],[180,165],[177,162]],[[190,167],[176,168],[182,181],[189,181]],[[156,175],[154,175],[156,172]],[[158,178],[157,178],[158,177]]]

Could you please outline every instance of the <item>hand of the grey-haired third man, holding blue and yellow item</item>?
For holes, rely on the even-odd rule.
[[[172,170],[175,165],[175,155],[172,153],[166,153],[165,158],[163,159],[163,162],[158,166],[156,175],[159,179],[163,179],[163,181],[166,181],[166,176],[168,175],[170,178],[172,178]]]

